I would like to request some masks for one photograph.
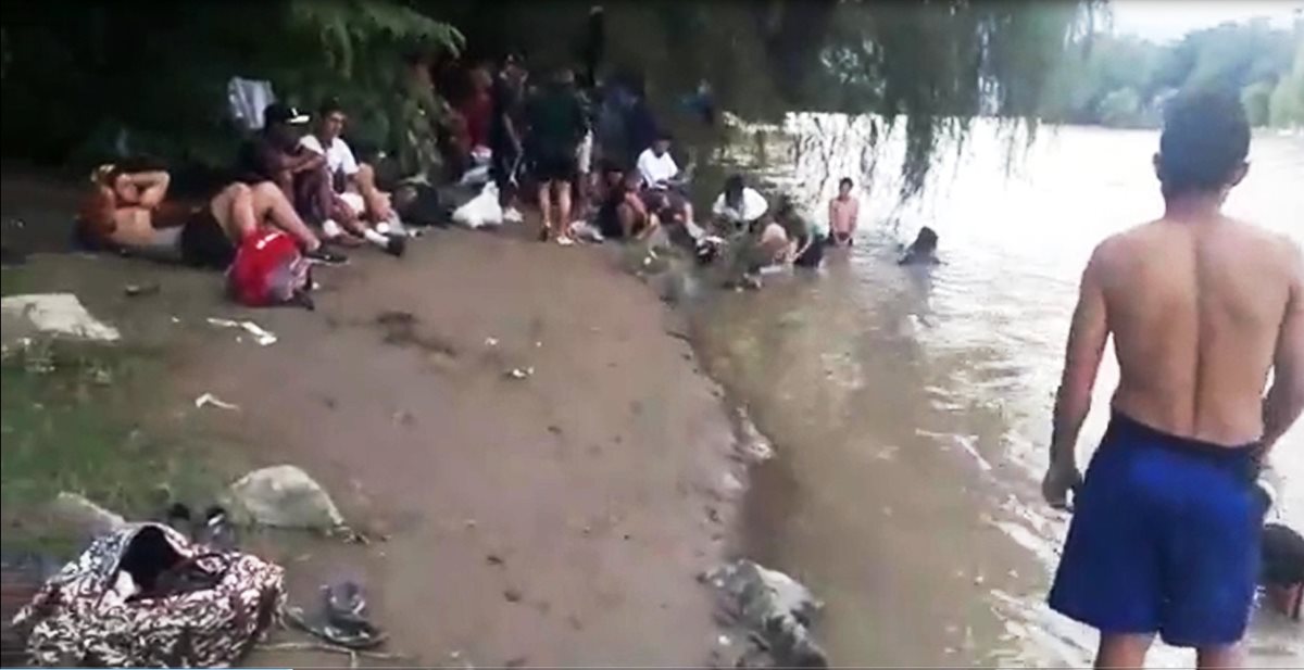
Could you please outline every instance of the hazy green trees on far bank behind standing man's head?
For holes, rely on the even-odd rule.
[[[1072,47],[1046,90],[1043,119],[1154,128],[1181,87],[1240,95],[1256,126],[1304,125],[1304,18],[1290,29],[1266,21],[1224,23],[1171,44],[1099,35]]]

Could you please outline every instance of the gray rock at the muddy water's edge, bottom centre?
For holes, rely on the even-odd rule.
[[[705,575],[720,609],[764,640],[739,662],[747,667],[828,667],[828,657],[810,632],[823,604],[799,581],[751,561],[725,563]]]

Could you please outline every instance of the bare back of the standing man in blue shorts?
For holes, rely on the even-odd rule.
[[[1264,386],[1301,318],[1297,245],[1224,216],[1159,219],[1101,244],[1089,272],[1119,358],[1115,409],[1201,442],[1264,437]]]

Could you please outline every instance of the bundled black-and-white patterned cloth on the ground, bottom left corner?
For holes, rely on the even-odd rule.
[[[38,666],[228,666],[276,623],[284,571],[163,524],[102,536],[13,619]]]

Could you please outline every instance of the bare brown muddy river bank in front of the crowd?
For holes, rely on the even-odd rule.
[[[7,182],[5,215],[17,199]],[[236,309],[216,275],[111,255],[33,255],[4,283],[76,293],[128,342],[154,332],[168,365],[136,412],[214,435],[201,447],[223,467],[297,464],[389,536],[257,540],[292,600],[359,576],[390,648],[432,666],[705,665],[717,632],[696,575],[729,544],[732,426],[665,332],[682,325],[617,266],[606,249],[438,231],[402,261],[318,272],[316,313]],[[124,296],[145,279],[159,291]],[[240,409],[196,408],[205,392]]]

